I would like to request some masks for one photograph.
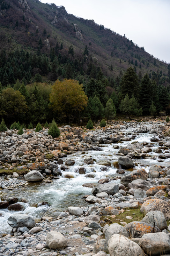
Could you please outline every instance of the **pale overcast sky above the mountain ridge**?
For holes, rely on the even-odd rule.
[[[170,62],[170,0],[41,0],[126,35],[154,57]]]

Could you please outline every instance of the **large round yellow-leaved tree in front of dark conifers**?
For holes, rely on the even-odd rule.
[[[83,85],[71,79],[56,80],[52,85],[49,99],[53,110],[57,113],[57,118],[65,119],[67,122],[70,117],[79,118],[88,101]]]

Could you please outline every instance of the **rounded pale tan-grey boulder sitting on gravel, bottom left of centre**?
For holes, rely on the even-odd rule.
[[[47,234],[46,244],[53,250],[63,249],[67,246],[67,240],[60,232],[51,231]]]

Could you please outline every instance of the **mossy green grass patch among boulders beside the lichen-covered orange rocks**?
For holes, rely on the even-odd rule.
[[[127,211],[129,210],[129,211]],[[132,216],[133,219],[131,220],[128,220],[126,219],[125,217],[126,216]],[[108,221],[105,220],[105,223],[101,223],[100,225],[103,227],[105,226],[106,224],[110,225],[110,224],[113,224],[113,223],[118,223],[119,225],[122,225],[120,222],[121,221],[124,221],[126,222],[127,224],[132,222],[132,221],[141,221],[143,218],[144,218],[144,214],[142,212],[140,212],[140,207],[137,208],[137,209],[130,209],[130,208],[126,208],[125,211],[123,213],[120,213],[119,215],[116,215],[115,218],[111,218],[110,216],[102,216],[100,218],[100,220],[104,220],[105,218],[109,219]],[[122,225],[124,226],[124,225]]]

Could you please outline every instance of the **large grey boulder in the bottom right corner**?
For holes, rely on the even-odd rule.
[[[164,233],[144,234],[139,239],[139,245],[147,255],[165,255],[170,253],[169,236]]]

